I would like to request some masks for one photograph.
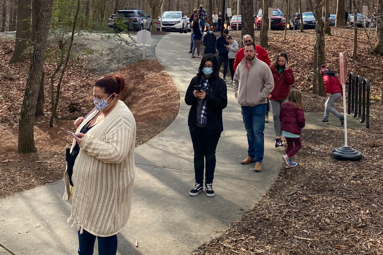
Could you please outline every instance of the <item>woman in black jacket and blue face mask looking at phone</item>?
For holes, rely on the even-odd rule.
[[[213,178],[216,165],[215,151],[223,131],[222,109],[228,105],[226,83],[219,77],[218,60],[206,54],[198,74],[191,79],[185,102],[191,105],[188,126],[194,149],[195,186],[189,192],[196,196],[203,191],[203,170],[206,160],[206,196],[214,196]]]

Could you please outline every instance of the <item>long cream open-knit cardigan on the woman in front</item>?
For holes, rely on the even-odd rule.
[[[97,114],[94,111],[76,132]],[[92,127],[80,143],[72,181],[72,227],[100,237],[117,234],[128,221],[134,180],[136,122],[123,101]],[[72,149],[75,141],[72,144]],[[67,184],[67,173],[64,175]],[[63,199],[68,198],[69,187]]]

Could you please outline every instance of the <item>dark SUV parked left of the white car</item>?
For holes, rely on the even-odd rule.
[[[152,29],[152,19],[150,15],[146,15],[146,13],[139,8],[124,7],[116,13],[114,19],[122,20],[124,24],[128,26],[128,29],[130,28],[134,31]],[[113,23],[113,29],[121,30],[116,22]]]

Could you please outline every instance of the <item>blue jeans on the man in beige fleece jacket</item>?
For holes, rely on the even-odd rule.
[[[247,131],[247,143],[249,149],[247,154],[254,162],[262,163],[265,152],[265,114],[266,104],[257,106],[241,106],[245,129]]]

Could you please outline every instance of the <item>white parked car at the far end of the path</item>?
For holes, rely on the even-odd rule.
[[[160,17],[158,18],[160,19]],[[188,19],[182,11],[164,11],[162,13],[162,31],[188,33]],[[157,28],[160,30],[160,28]]]

